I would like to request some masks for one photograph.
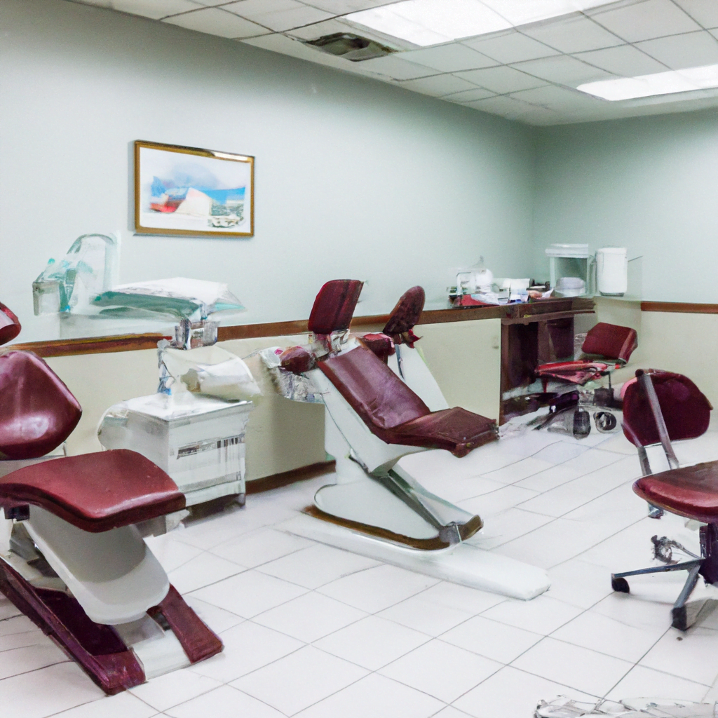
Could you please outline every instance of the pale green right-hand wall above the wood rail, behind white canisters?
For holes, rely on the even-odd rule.
[[[643,299],[718,302],[718,111],[540,129],[536,148],[537,268],[554,242],[626,246]]]

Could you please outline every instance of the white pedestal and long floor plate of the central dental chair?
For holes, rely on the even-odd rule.
[[[513,598],[549,589],[543,569],[464,543],[482,528],[481,519],[430,493],[401,466],[401,457],[425,449],[381,441],[321,370],[307,376],[325,401],[325,447],[337,473],[314,495],[308,515],[282,525],[285,531]],[[487,432],[480,442],[493,438]]]

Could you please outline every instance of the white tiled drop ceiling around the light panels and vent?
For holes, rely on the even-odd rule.
[[[388,36],[358,29],[345,16],[393,2],[73,1],[234,39],[532,125],[718,107],[718,89],[617,102],[576,89],[599,80],[718,64],[718,0],[619,0],[432,47],[395,41],[397,52],[363,62],[302,41],[350,32],[386,42]]]

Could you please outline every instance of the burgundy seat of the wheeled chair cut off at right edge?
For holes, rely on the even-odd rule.
[[[718,522],[718,461],[643,476],[633,484],[640,498],[679,516]]]

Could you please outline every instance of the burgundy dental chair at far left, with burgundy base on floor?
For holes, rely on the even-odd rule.
[[[0,310],[6,342],[19,322]],[[115,694],[222,643],[169,584],[137,526],[185,508],[169,476],[127,449],[45,455],[81,414],[42,359],[0,354],[0,592]]]

